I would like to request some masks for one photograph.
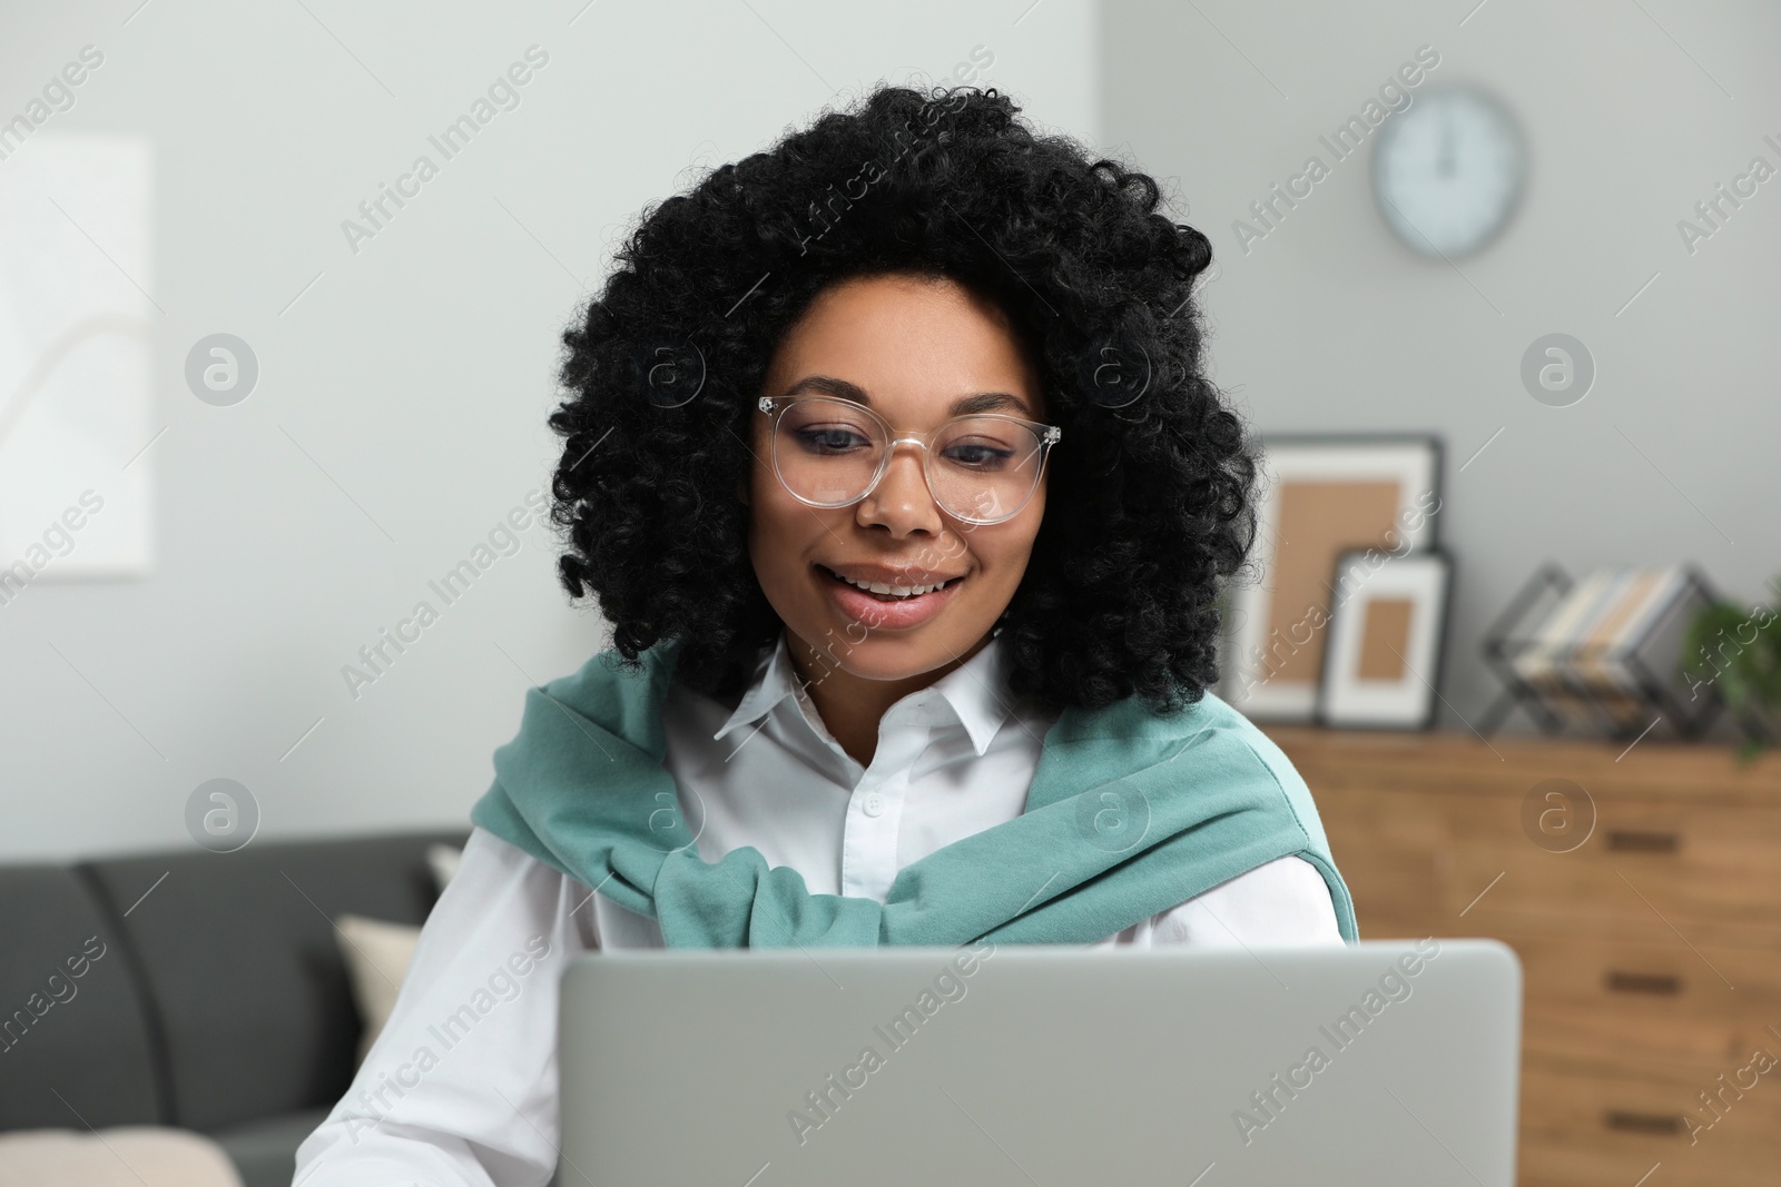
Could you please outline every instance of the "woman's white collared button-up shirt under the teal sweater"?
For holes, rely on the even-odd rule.
[[[883,902],[905,865],[1021,815],[1053,723],[1012,703],[990,639],[892,705],[862,767],[823,724],[780,632],[734,708],[671,685],[664,765],[705,861],[753,845],[812,893]],[[1343,940],[1323,876],[1279,858],[1090,947],[1161,943]],[[655,920],[472,829],[395,1011],[346,1098],[297,1150],[294,1182],[549,1182],[556,981],[581,952],[659,947]]]

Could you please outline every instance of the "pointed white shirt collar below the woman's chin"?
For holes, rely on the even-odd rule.
[[[757,669],[753,685],[743,694],[736,712],[711,737],[721,739],[732,730],[752,724],[771,712],[785,698],[803,712],[805,721],[819,737],[828,731],[821,726],[816,703],[803,689],[798,669],[791,658],[791,635],[782,628],[778,642]],[[887,717],[896,715],[905,723],[917,724],[962,724],[971,737],[971,746],[978,755],[988,749],[990,739],[1003,728],[1012,714],[1013,698],[1003,680],[1001,639],[992,637],[969,660],[935,680],[926,689],[910,692],[887,710]]]

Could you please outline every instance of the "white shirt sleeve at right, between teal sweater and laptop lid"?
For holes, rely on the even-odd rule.
[[[1339,945],[1343,938],[1323,876],[1304,858],[1286,856],[1154,916],[1151,943]]]

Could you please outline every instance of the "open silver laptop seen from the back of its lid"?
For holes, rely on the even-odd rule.
[[[556,1183],[1510,1187],[1519,1048],[1494,940],[593,954]]]

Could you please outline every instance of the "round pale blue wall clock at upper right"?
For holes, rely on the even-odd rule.
[[[1373,196],[1386,226],[1428,256],[1478,251],[1509,224],[1526,153],[1514,117],[1482,91],[1423,91],[1373,146]]]

